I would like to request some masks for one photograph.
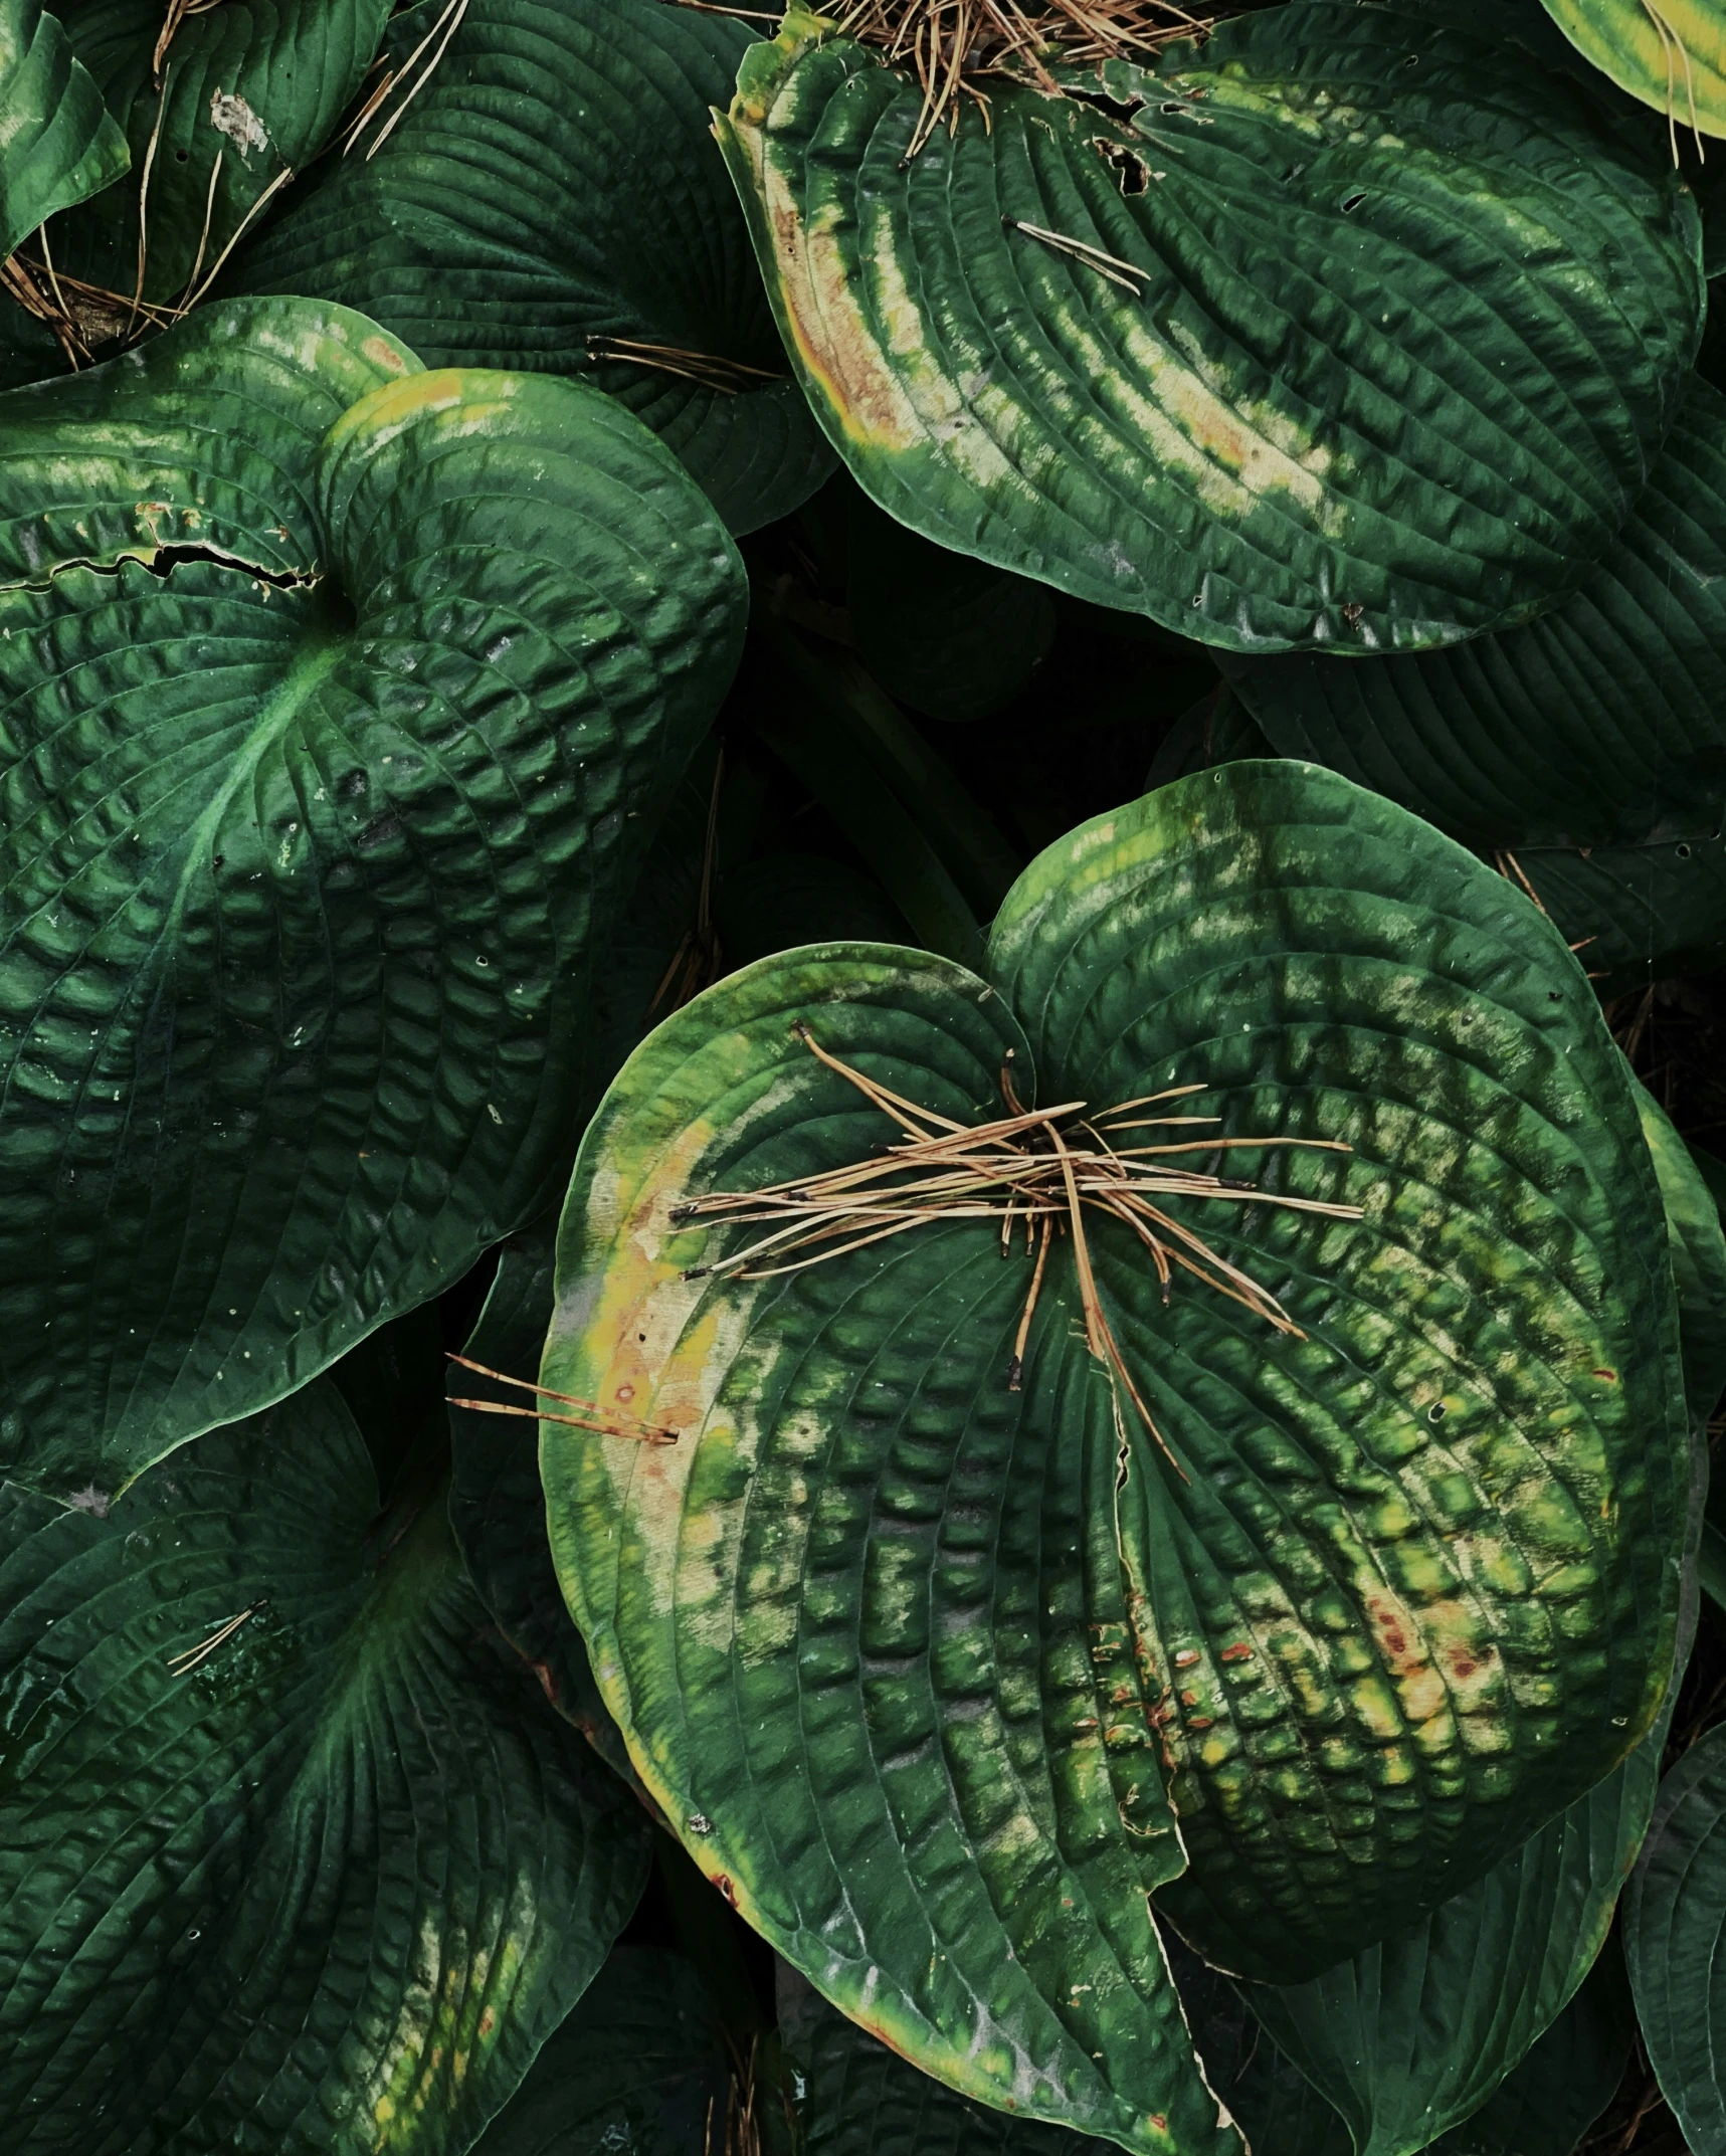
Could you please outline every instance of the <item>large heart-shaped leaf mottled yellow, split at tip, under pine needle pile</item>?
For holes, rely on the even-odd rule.
[[[725,1231],[675,1207],[893,1134],[796,1020],[962,1125],[1001,1112],[1005,1050],[1092,1115],[1200,1084],[1213,1132],[1353,1145],[1228,1158],[1366,1218],[1187,1207],[1301,1335],[1191,1281],[1165,1309],[1092,1229],[1165,1455],[1087,1356],[1070,1242],[1023,1391],[1029,1266],[992,1218],[688,1276]],[[803,951],[660,1026],[583,1141],[542,1376],[680,1432],[546,1425],[542,1473],[690,1854],[962,2093],[1126,2147],[1217,2134],[1148,1891],[1213,1958],[1303,1977],[1463,1891],[1666,1686],[1689,1462],[1622,1059],[1534,908],[1312,768],[1081,828],[988,981]]]

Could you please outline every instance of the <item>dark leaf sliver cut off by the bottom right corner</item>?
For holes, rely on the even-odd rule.
[[[1726,2150],[1726,1729],[1711,1729],[1659,1787],[1625,1895],[1625,1962],[1648,2063],[1694,2156]]]

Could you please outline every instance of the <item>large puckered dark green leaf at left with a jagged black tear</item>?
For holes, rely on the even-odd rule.
[[[608,397],[419,373],[345,308],[0,401],[22,1470],[112,1490],[546,1203],[593,940],[742,612]]]

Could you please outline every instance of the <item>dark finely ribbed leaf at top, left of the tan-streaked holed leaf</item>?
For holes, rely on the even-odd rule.
[[[421,0],[393,45],[410,54],[440,15]],[[432,367],[580,373],[731,530],[781,517],[833,457],[712,142],[751,43],[658,0],[468,0],[425,88],[403,71],[237,282],[362,306]]]

